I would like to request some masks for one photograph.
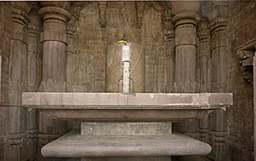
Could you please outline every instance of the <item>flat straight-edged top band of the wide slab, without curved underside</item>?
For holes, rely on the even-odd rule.
[[[68,93],[24,92],[23,106],[36,108],[131,109],[131,108],[196,108],[233,104],[231,93]]]

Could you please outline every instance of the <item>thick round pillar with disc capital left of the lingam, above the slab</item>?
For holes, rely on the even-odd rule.
[[[65,91],[65,47],[66,21],[70,13],[60,7],[46,6],[39,10],[43,15],[44,31],[40,41],[43,43],[43,91]]]

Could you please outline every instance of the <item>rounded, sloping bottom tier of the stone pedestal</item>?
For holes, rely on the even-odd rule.
[[[82,136],[70,132],[42,148],[44,157],[149,157],[207,155],[207,143],[182,134]]]

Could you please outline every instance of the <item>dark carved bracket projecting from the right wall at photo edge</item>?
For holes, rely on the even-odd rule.
[[[238,55],[243,78],[250,82],[253,86],[253,56],[255,53],[256,38],[243,45],[236,47],[236,55]]]

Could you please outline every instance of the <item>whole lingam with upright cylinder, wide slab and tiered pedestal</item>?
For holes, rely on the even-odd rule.
[[[231,93],[144,93],[144,51],[136,43],[107,47],[106,93],[24,92],[22,105],[81,123],[42,148],[44,157],[207,155],[209,144],[172,131],[233,104]],[[170,160],[170,158],[169,158]]]

